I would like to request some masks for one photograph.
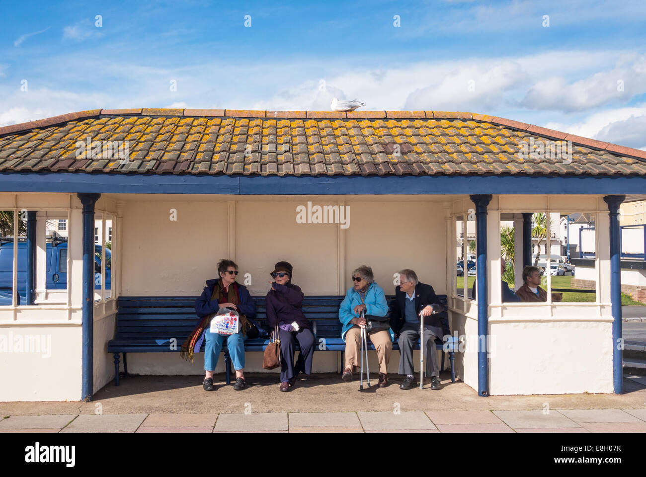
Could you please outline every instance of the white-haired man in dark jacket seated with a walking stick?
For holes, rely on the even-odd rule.
[[[426,376],[431,377],[431,389],[441,388],[439,379],[439,359],[435,350],[435,338],[443,336],[442,323],[437,313],[444,311],[444,306],[433,287],[417,281],[413,270],[399,271],[400,284],[395,288],[395,303],[390,314],[390,328],[399,335],[399,374],[406,376],[401,389],[415,386],[413,367],[413,346],[419,340],[419,313],[424,317],[424,356],[426,359]]]

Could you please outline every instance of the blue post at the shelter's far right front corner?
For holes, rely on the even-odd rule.
[[[614,394],[623,392],[623,363],[621,362],[621,244],[619,240],[618,211],[625,195],[607,195],[610,217],[610,303],[612,304],[612,381]],[[623,346],[621,346],[623,348]]]

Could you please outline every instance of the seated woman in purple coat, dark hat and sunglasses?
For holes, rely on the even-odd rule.
[[[291,282],[292,270],[289,262],[278,262],[271,272],[274,282],[269,282],[271,290],[267,293],[267,325],[270,330],[278,325],[282,354],[280,390],[283,392],[295,385],[299,372],[311,374],[315,348],[311,324],[301,311],[303,292]],[[300,354],[294,363],[297,341]]]

